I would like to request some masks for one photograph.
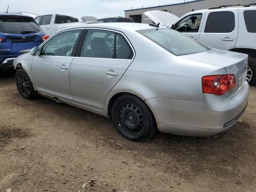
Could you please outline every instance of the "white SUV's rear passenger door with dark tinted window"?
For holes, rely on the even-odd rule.
[[[224,9],[223,9],[224,10]],[[238,8],[207,10],[199,41],[210,47],[230,50],[238,36]]]

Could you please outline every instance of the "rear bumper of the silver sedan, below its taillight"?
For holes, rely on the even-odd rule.
[[[246,109],[250,88],[246,82],[231,99],[204,94],[205,102],[166,98],[146,100],[160,132],[185,136],[212,136],[232,127]],[[221,97],[220,97],[221,98]]]

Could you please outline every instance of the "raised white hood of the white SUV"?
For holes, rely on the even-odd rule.
[[[160,26],[164,27],[169,27],[172,24],[175,24],[178,21],[178,17],[175,16],[174,14],[171,14],[166,11],[147,11],[144,12],[144,15],[148,16],[154,23],[158,24],[160,23]]]

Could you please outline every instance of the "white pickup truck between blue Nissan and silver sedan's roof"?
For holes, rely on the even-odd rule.
[[[63,28],[68,27],[67,24],[69,23],[78,22],[78,18],[61,14],[40,15],[34,20],[42,28],[45,34],[48,34],[49,36]]]

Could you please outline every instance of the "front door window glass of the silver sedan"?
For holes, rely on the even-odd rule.
[[[41,55],[71,56],[81,30],[60,33],[51,38],[42,48]]]

